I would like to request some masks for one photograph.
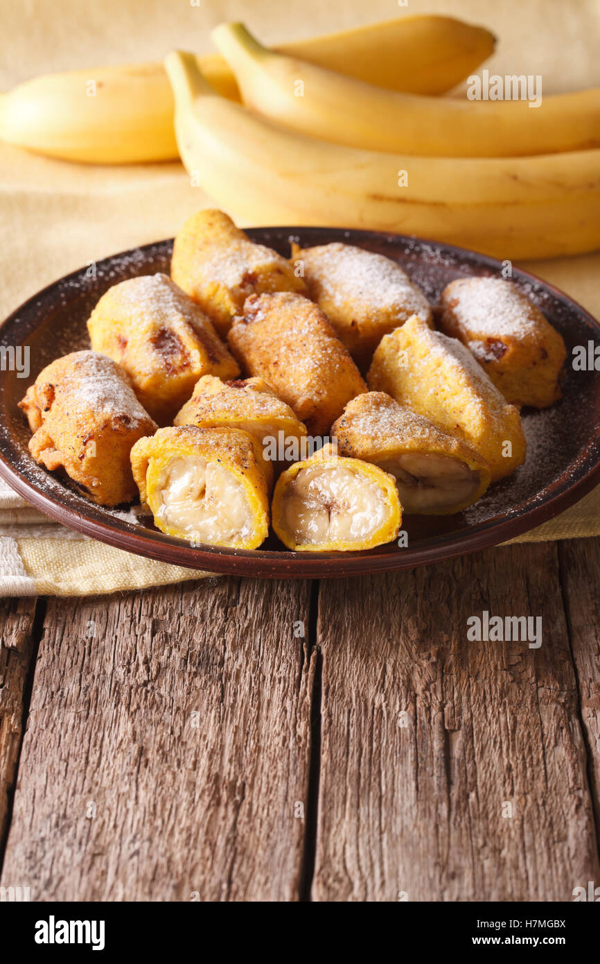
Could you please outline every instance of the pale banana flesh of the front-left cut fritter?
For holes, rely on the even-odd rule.
[[[171,459],[163,469],[156,518],[197,543],[231,546],[251,531],[243,486],[227,469],[197,457]]]

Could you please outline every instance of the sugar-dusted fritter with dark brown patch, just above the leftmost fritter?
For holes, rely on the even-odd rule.
[[[167,275],[109,288],[91,312],[88,331],[93,350],[125,369],[159,425],[170,424],[201,375],[240,373],[212,322]]]

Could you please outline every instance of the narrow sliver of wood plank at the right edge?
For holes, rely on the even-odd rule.
[[[600,838],[600,539],[561,542],[559,558]]]

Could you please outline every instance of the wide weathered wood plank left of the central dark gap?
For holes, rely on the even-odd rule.
[[[296,899],[308,607],[308,583],[235,579],[50,601],[2,879],[34,900]]]

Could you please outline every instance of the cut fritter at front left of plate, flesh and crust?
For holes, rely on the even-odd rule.
[[[159,529],[211,546],[257,549],[269,531],[260,446],[237,428],[161,428],[131,450],[142,502]]]

